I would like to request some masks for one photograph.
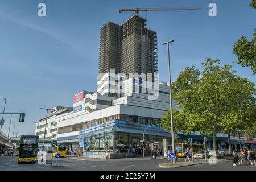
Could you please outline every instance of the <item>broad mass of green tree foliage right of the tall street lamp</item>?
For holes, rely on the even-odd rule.
[[[236,76],[231,65],[220,65],[218,59],[206,59],[203,67],[202,72],[195,67],[185,68],[172,84],[174,98],[181,107],[180,111],[174,110],[175,130],[187,134],[200,131],[214,140],[224,130],[253,126],[254,84]],[[164,114],[162,126],[170,130],[170,111]]]

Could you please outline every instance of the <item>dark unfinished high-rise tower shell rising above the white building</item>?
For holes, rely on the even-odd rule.
[[[133,15],[121,25],[109,22],[101,28],[98,73],[158,73],[156,32],[146,19]],[[148,80],[150,81],[150,80]]]

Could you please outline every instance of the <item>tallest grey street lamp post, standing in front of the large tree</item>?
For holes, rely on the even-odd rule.
[[[172,152],[175,154],[175,149],[174,149],[174,118],[173,118],[173,113],[172,113],[172,86],[171,86],[171,67],[170,67],[170,46],[169,44],[174,42],[174,40],[169,40],[168,42],[162,43],[162,45],[167,44],[168,48],[168,68],[169,68],[169,88],[170,88],[170,114],[171,114],[171,135],[172,135]],[[175,163],[175,158],[173,159]]]

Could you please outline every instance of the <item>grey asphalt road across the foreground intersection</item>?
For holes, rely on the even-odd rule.
[[[215,171],[215,170],[232,170],[232,171],[256,171],[256,167],[232,166],[232,160],[218,161],[217,165],[197,164],[180,168],[160,168],[159,164],[166,162],[166,159],[78,159],[78,158],[61,158],[58,160],[59,167],[50,167],[49,164],[18,164],[16,156],[4,156],[0,158],[0,171]]]

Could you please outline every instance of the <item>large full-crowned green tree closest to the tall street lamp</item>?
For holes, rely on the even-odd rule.
[[[237,76],[231,65],[221,66],[220,60],[207,59],[203,62],[203,67],[202,72],[195,67],[185,68],[172,84],[174,98],[181,107],[175,117],[179,121],[174,118],[174,122],[180,125],[179,130],[185,134],[200,131],[201,134],[212,135],[213,150],[216,151],[216,134],[224,130],[233,131],[233,127],[240,126],[238,119],[234,119],[240,118],[236,113],[240,105],[235,107],[234,102],[247,101],[243,101],[242,96],[240,102],[236,100],[236,92],[240,90],[238,87],[237,90],[232,90]],[[241,80],[243,81],[245,80]],[[251,84],[250,89],[255,91],[254,85]]]

